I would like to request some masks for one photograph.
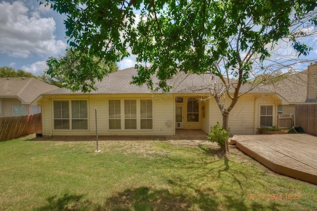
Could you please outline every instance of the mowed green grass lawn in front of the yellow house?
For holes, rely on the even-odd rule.
[[[58,139],[57,139],[58,140]],[[193,141],[0,142],[1,211],[316,211],[317,186]]]

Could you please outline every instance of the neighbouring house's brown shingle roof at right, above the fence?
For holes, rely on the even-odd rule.
[[[304,103],[307,97],[307,71],[298,72],[270,85],[261,86],[274,91],[289,103]]]

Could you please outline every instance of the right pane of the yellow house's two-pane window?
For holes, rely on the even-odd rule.
[[[87,130],[88,129],[88,112],[86,100],[71,101],[71,129]]]

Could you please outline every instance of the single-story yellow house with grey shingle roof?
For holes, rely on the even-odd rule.
[[[100,136],[174,136],[177,129],[209,133],[222,122],[206,85],[211,80],[218,85],[211,74],[179,73],[169,81],[173,88],[168,94],[130,84],[132,75],[137,75],[135,68],[109,73],[90,93],[60,88],[42,94],[36,103],[42,106],[43,136],[94,136],[96,116]],[[241,93],[250,86],[244,84]],[[263,88],[242,95],[229,116],[230,133],[256,134],[259,127],[276,125],[281,102],[275,92]]]

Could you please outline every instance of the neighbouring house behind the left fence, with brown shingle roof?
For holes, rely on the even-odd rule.
[[[31,103],[42,93],[58,89],[32,77],[0,78],[0,117],[21,116],[41,112]]]

